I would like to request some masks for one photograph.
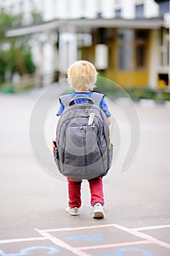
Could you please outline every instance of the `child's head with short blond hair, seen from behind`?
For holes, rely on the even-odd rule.
[[[97,74],[96,68],[89,61],[76,61],[68,69],[68,81],[74,90],[93,91]]]

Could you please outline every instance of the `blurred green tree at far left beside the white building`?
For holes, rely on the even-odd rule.
[[[22,22],[22,15],[9,15],[6,12],[0,14],[0,82],[5,81],[7,73],[12,80],[15,72],[20,75],[35,72],[31,49],[28,47],[28,36],[5,37],[8,28],[22,26]]]

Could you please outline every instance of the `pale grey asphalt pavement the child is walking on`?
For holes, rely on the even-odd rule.
[[[56,91],[56,104],[45,119],[49,150],[61,92]],[[0,94],[0,256],[169,256],[169,102],[134,103],[141,138],[134,161],[122,171],[129,143],[136,136],[130,127],[137,120],[129,124],[124,115],[128,102],[120,100],[120,106],[107,100],[120,129],[121,143],[119,148],[115,145],[117,159],[104,177],[106,218],[99,220],[93,219],[87,181],[82,182],[80,216],[71,217],[65,212],[66,181],[47,173],[34,157],[29,127],[38,97],[35,91]],[[39,111],[40,115],[43,108]],[[115,135],[113,132],[116,143]]]

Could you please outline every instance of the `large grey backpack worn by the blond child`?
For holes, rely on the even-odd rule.
[[[107,175],[111,167],[113,148],[109,148],[107,116],[99,107],[102,97],[96,92],[91,97],[60,97],[64,110],[57,124],[57,149],[53,153],[63,176],[90,180]],[[87,102],[77,104],[77,98],[87,98]]]

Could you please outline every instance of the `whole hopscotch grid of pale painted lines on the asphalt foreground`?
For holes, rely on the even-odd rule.
[[[125,242],[125,243],[117,243],[117,244],[98,244],[96,246],[79,246],[74,247],[66,244],[66,242],[62,241],[61,239],[52,236],[50,233],[58,232],[58,231],[73,231],[73,230],[90,230],[90,229],[97,229],[97,228],[106,228],[106,227],[115,227],[119,230],[122,230],[126,233],[130,233],[133,236],[138,238],[142,238],[142,241],[132,241],[132,242]],[[74,255],[78,256],[92,256],[87,252],[83,252],[88,249],[107,249],[107,248],[114,248],[114,247],[123,247],[123,246],[133,246],[133,245],[142,245],[142,244],[157,244],[158,246],[165,247],[166,249],[170,249],[170,244],[167,244],[163,241],[160,241],[152,236],[148,236],[144,233],[139,231],[142,230],[156,230],[156,229],[163,229],[166,227],[170,227],[170,225],[157,225],[157,226],[149,226],[149,227],[135,227],[135,228],[128,228],[117,224],[109,224],[109,225],[94,225],[94,226],[86,226],[86,227],[66,227],[66,228],[55,228],[49,230],[39,230],[34,229],[36,232],[39,233],[42,237],[32,237],[32,238],[15,238],[15,239],[7,239],[7,240],[0,240],[0,244],[11,244],[11,243],[18,243],[23,241],[51,241],[56,246],[59,246],[63,249],[72,252]],[[103,234],[102,234],[103,235]],[[95,239],[92,239],[95,237]],[[102,241],[101,234],[96,234],[93,236],[75,236],[75,237],[67,237],[67,238],[74,238],[74,240],[79,240],[80,238],[91,238],[90,241],[96,241],[96,237]],[[64,239],[64,238],[63,238]],[[36,246],[37,247],[37,246]]]

